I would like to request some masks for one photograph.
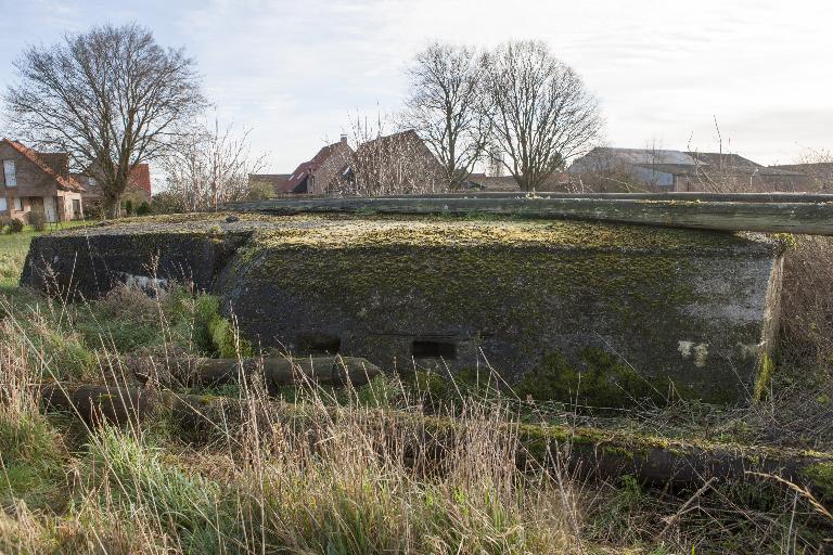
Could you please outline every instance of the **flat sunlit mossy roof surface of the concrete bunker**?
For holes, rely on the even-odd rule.
[[[777,242],[760,234],[695,231],[567,220],[509,218],[395,217],[241,214],[165,215],[129,218],[62,232],[69,235],[124,233],[225,233],[259,230],[261,246],[342,248],[345,246],[411,245],[436,247],[549,246],[650,251],[760,249],[771,253]]]

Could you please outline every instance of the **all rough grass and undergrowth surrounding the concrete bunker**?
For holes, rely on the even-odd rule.
[[[303,413],[295,422],[262,411],[256,385],[226,387],[208,392],[242,401],[240,414],[198,431],[164,411],[97,430],[72,414],[43,415],[39,384],[130,382],[126,354],[217,356],[234,336],[212,333],[228,330],[217,326],[216,300],[184,288],[155,298],[125,288],[71,306],[21,292],[30,237],[0,236],[0,553],[820,553],[831,535],[812,501],[778,482],[656,491],[630,476],[585,481],[558,465],[522,472],[507,422],[592,416],[552,405],[518,413],[520,400],[438,376],[287,389]],[[797,253],[802,263],[819,258]],[[785,314],[787,347],[804,348],[784,364],[821,369],[829,350],[800,334],[826,338],[823,307],[805,305],[804,321]],[[818,374],[798,383],[782,373],[771,400],[752,410],[678,404],[608,423],[746,442],[780,427],[825,448]],[[799,397],[816,403],[802,405],[802,418],[789,412]],[[459,437],[437,465],[413,449],[420,429],[380,425],[380,409],[444,414]],[[817,427],[800,431],[799,420]]]

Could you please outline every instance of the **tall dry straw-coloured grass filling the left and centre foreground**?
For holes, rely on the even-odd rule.
[[[497,425],[509,415],[494,405],[453,415],[461,431],[439,457],[421,449],[418,420],[381,417],[388,396],[407,397],[389,382],[349,390],[342,404],[309,385],[290,421],[262,410],[273,400],[261,387],[244,386],[240,417],[214,421],[193,441],[164,413],[125,429],[46,417],[44,379],[129,376],[106,337],[92,369],[62,371],[66,346],[43,340],[50,325],[75,318],[62,310],[75,309],[39,307],[25,322],[9,309],[0,330],[0,476],[12,477],[0,483],[1,553],[584,552],[571,481],[522,472],[517,437]]]

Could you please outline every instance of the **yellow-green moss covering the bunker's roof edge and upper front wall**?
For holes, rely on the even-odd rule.
[[[253,278],[357,312],[372,311],[374,297],[418,295],[449,321],[494,318],[483,309],[496,299],[508,319],[534,319],[556,309],[559,296],[586,296],[590,308],[601,301],[638,319],[652,306],[692,299],[693,269],[680,253],[745,244],[718,233],[569,222],[351,221],[261,231],[239,260],[262,257]],[[657,288],[657,276],[676,286]],[[628,300],[608,304],[621,292]]]

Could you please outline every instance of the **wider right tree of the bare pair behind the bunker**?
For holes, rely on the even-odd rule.
[[[521,189],[543,183],[600,135],[595,98],[540,41],[511,41],[484,55],[491,140]]]

